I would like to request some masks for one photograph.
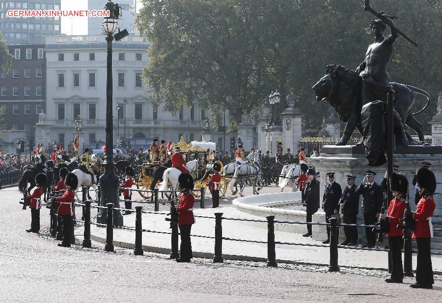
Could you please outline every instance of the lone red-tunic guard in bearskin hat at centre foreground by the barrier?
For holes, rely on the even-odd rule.
[[[177,262],[190,262],[192,259],[192,243],[190,238],[192,224],[195,223],[193,216],[193,203],[195,198],[192,195],[193,177],[189,173],[183,173],[178,177],[181,194],[178,199],[176,211],[178,212],[178,227],[180,228],[181,247],[180,257]]]

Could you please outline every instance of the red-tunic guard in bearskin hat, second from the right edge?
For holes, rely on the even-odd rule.
[[[389,182],[390,190],[393,192],[394,199],[390,201],[387,215],[381,214],[379,216],[381,220],[386,220],[388,222],[388,230],[384,231],[387,231],[388,248],[390,249],[391,277],[385,281],[387,283],[402,283],[404,270],[402,268],[401,249],[404,229],[398,228],[397,226],[403,225],[402,218],[404,217],[405,197],[408,193],[408,180],[404,175],[392,173]]]

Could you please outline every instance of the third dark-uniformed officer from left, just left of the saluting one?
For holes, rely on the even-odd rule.
[[[359,214],[359,195],[356,192],[355,176],[347,175],[347,186],[344,188],[339,201],[344,224],[356,224],[356,216]],[[358,227],[344,226],[345,241],[341,245],[355,246],[358,242]]]

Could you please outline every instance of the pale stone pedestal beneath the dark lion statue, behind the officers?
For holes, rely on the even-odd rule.
[[[431,170],[436,175],[438,182],[436,192],[442,192],[442,146],[411,146],[397,147],[394,154],[394,164],[399,166],[399,173],[406,176],[409,181],[410,205],[412,211],[416,209],[414,204],[415,189],[412,181],[417,168],[421,167],[421,162],[426,161],[432,164]],[[309,164],[315,166],[316,171],[320,172],[320,205],[322,205],[322,197],[324,188],[327,184],[326,174],[334,172],[335,181],[339,183],[344,190],[347,185],[346,175],[353,175],[356,178],[356,184],[359,185],[365,177],[365,171],[371,170],[376,173],[375,181],[381,183],[387,171],[387,165],[380,167],[370,167],[367,165],[364,147],[359,146],[324,146],[320,157],[309,158]],[[362,197],[359,200],[358,224],[363,224],[362,210],[360,209]],[[433,222],[440,220],[440,217],[434,217]],[[313,215],[312,221],[325,222],[325,214],[320,209]],[[327,238],[325,227],[313,226],[313,238],[316,240],[324,240]],[[315,232],[316,231],[316,232]],[[365,231],[358,228],[359,242],[366,242]],[[339,238],[343,238],[343,230],[339,231]]]

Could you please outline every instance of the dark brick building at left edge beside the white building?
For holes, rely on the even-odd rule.
[[[0,76],[2,129],[25,130],[34,138],[38,114],[45,109],[46,58],[44,45],[8,46],[14,56],[9,73]]]

